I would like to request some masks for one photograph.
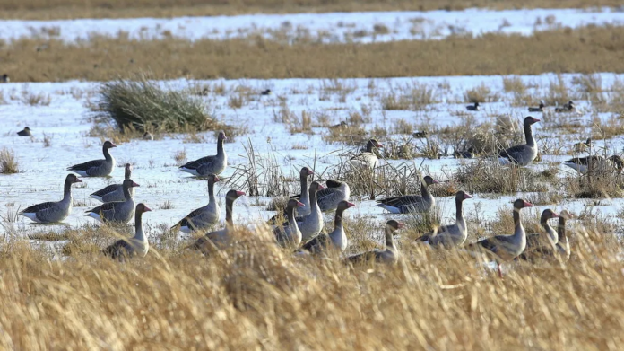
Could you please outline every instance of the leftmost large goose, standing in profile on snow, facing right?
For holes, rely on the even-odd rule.
[[[30,218],[36,223],[56,223],[61,222],[72,213],[72,184],[82,183],[75,174],[67,174],[63,189],[63,199],[58,202],[44,202],[26,207],[20,215]]]

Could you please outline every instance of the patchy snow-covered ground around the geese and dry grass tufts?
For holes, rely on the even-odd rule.
[[[575,75],[564,75],[564,80],[570,87]],[[610,86],[616,79],[624,78],[624,75],[602,74],[603,86]],[[534,86],[531,92],[541,96],[548,83],[556,79],[555,75],[523,76],[524,83]],[[171,81],[163,82],[163,85],[171,89],[187,87],[191,82]],[[229,154],[230,168],[224,172],[224,178],[234,178],[235,167],[247,163],[244,145],[249,142],[254,145],[256,154],[264,157],[271,154],[282,167],[284,174],[295,174],[304,165],[311,165],[316,155],[315,170],[319,174],[327,174],[338,162],[336,150],[357,150],[361,145],[327,144],[323,136],[327,133],[325,127],[315,127],[314,134],[290,135],[286,125],[274,121],[274,114],[281,109],[280,101],[287,101],[288,108],[296,115],[306,110],[312,116],[324,113],[328,115],[332,123],[338,123],[348,118],[352,111],[369,110],[371,123],[366,128],[383,127],[391,130],[398,119],[405,119],[410,123],[419,124],[425,120],[430,125],[446,126],[457,124],[462,118],[459,111],[465,111],[464,92],[481,84],[490,87],[492,92],[499,95],[498,101],[484,104],[484,109],[475,112],[477,120],[491,121],[497,113],[507,114],[516,120],[521,120],[527,115],[526,107],[514,107],[510,102],[510,95],[503,91],[500,76],[473,76],[473,77],[438,77],[438,78],[395,78],[395,79],[349,79],[340,81],[323,81],[312,79],[290,80],[245,80],[245,81],[212,81],[192,82],[198,84],[223,85],[225,93],[209,94],[204,97],[210,109],[218,118],[225,123],[238,126],[247,126],[248,134],[238,136],[233,143],[226,144]],[[327,89],[332,84],[342,84],[350,87],[346,95],[342,92]],[[429,105],[427,110],[415,112],[411,110],[382,110],[379,96],[396,89],[404,84],[428,84],[438,87],[438,103]],[[0,175],[0,198],[3,207],[0,214],[6,215],[9,210],[13,213],[19,208],[30,206],[45,201],[57,201],[62,197],[62,185],[65,168],[78,162],[86,162],[99,159],[101,154],[101,140],[98,137],[88,136],[92,127],[90,120],[91,112],[86,107],[87,102],[93,102],[93,92],[97,90],[99,83],[6,83],[0,84],[0,92],[4,95],[5,104],[0,105],[0,147],[13,149],[20,163],[21,173],[13,175]],[[250,101],[238,109],[229,106],[231,95],[237,94],[237,87],[244,86],[254,92]],[[261,96],[260,91],[271,88],[273,94]],[[393,88],[394,87],[394,88]],[[371,90],[371,89],[374,89]],[[24,94],[42,94],[49,96],[48,106],[30,106],[23,101]],[[576,101],[578,105],[578,118],[587,120],[593,118],[587,101]],[[464,113],[464,112],[463,112]],[[541,114],[538,114],[541,115]],[[537,116],[546,118],[545,116]],[[600,116],[606,118],[606,116]],[[558,118],[554,115],[553,118]],[[314,120],[313,120],[314,123]],[[29,126],[33,130],[33,137],[16,136],[16,132],[22,127]],[[541,131],[541,123],[534,126],[538,137],[544,136]],[[572,145],[585,140],[584,128],[578,130],[578,135],[551,136],[561,138],[564,145]],[[43,143],[44,133],[51,139],[50,145],[45,147]],[[194,160],[207,154],[216,152],[215,136],[212,132],[201,134],[206,142],[202,144],[185,143],[185,136],[165,137],[160,140],[143,141],[133,140],[129,143],[119,144],[112,149],[118,164],[131,162],[134,164],[133,179],[141,185],[137,189],[136,201],[144,202],[151,206],[154,212],[145,216],[148,224],[175,224],[184,215],[198,206],[203,206],[207,201],[206,183],[204,180],[195,180],[186,173],[178,171],[173,156],[178,151],[186,151],[187,159]],[[389,135],[387,139],[401,139],[406,136]],[[409,138],[409,136],[408,136]],[[418,144],[419,141],[413,140]],[[421,142],[420,142],[421,143]],[[607,140],[611,150],[621,150],[621,137]],[[596,147],[601,147],[603,142],[596,141]],[[307,147],[301,149],[293,147],[301,145]],[[562,161],[567,155],[543,155],[544,160]],[[416,159],[391,161],[394,164],[410,162],[428,169],[432,175],[440,180],[445,180],[445,174],[455,170],[460,162],[452,157],[440,160]],[[543,167],[543,162],[532,165],[533,168]],[[385,162],[382,162],[382,165]],[[571,170],[562,166],[562,171]],[[89,198],[89,194],[111,182],[120,182],[123,179],[123,168],[117,168],[113,178],[84,179],[84,188],[74,189],[74,199],[82,203],[82,206],[74,207],[74,212],[65,220],[71,226],[94,222],[84,216],[84,210],[99,203]],[[294,183],[296,184],[296,183]],[[293,189],[296,186],[293,185]],[[218,195],[224,196],[227,188],[218,184]],[[245,190],[245,189],[243,189]],[[500,206],[509,207],[514,199],[512,196],[498,197],[492,195],[482,196],[474,194],[473,200],[467,201],[465,211],[467,215],[475,215],[479,208],[481,218],[488,220],[496,215]],[[375,206],[373,201],[354,198],[357,206],[349,211],[349,215],[363,215],[377,217],[379,222],[390,216]],[[169,201],[171,209],[159,207]],[[266,197],[243,197],[238,201],[236,216],[246,223],[251,223],[261,218],[266,218],[273,213],[265,211],[265,205],[270,201]],[[445,218],[453,218],[455,206],[453,198],[438,198],[439,206]],[[557,209],[568,208],[576,213],[586,209],[589,200],[564,199]],[[613,215],[619,212],[624,202],[621,199],[601,201],[601,206],[594,210],[602,214]],[[85,206],[86,205],[86,206]],[[541,210],[539,207],[535,210]],[[224,211],[223,214],[224,216]],[[329,219],[329,217],[328,217]],[[30,220],[20,217],[18,226],[38,227],[30,224]],[[49,227],[46,227],[49,229]]]

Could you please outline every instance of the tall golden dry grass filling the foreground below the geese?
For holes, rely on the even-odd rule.
[[[211,258],[159,246],[126,263],[93,250],[51,260],[4,243],[0,345],[589,350],[624,341],[621,248],[603,234],[576,233],[568,263],[519,264],[503,279],[407,239],[397,266],[352,270],[294,258],[268,234],[238,235],[235,250]]]

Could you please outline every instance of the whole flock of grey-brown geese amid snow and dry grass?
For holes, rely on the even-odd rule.
[[[532,126],[540,119],[531,116],[524,118],[525,144],[516,145],[498,153],[498,162],[511,164],[515,167],[526,166],[533,162],[537,156],[537,145],[533,138]],[[28,130],[30,132],[30,129]],[[228,167],[228,156],[224,149],[227,139],[224,132],[217,137],[217,154],[206,156],[198,160],[187,162],[179,167],[180,171],[188,172],[194,176],[206,179],[208,182],[208,204],[199,207],[182,218],[172,229],[183,233],[204,233],[221,218],[221,207],[214,196],[214,186],[221,181],[219,174]],[[588,141],[591,143],[591,140]],[[37,223],[55,223],[63,221],[72,211],[72,184],[82,182],[76,176],[81,177],[106,177],[116,167],[116,162],[110,154],[110,149],[117,147],[110,141],[102,145],[103,160],[94,160],[75,164],[67,168],[72,171],[65,178],[64,197],[58,202],[46,202],[25,208],[20,215],[30,218]],[[350,160],[354,167],[363,167],[374,171],[379,160],[374,153],[375,148],[383,147],[377,140],[371,139],[367,143],[366,151],[356,154]],[[568,166],[579,172],[586,172],[592,168],[621,169],[621,159],[617,156],[605,158],[592,155],[585,158],[574,158],[565,162]],[[147,236],[143,233],[142,215],[152,211],[144,204],[135,205],[134,188],[139,187],[132,177],[132,165],[126,164],[125,180],[121,184],[109,185],[91,194],[103,204],[86,211],[86,215],[101,223],[128,223],[134,216],[135,235],[132,238],[123,239],[102,250],[106,255],[114,258],[123,258],[130,255],[144,256],[149,250]],[[314,175],[314,170],[308,167],[301,168],[299,172],[301,192],[294,195],[288,201],[283,214],[273,216],[267,224],[272,226],[276,244],[288,250],[307,252],[310,254],[322,254],[329,250],[343,252],[347,249],[349,241],[342,226],[342,215],[345,210],[355,206],[349,202],[349,185],[340,180],[326,180],[325,185],[318,181],[312,181],[308,185],[308,177]],[[405,195],[402,197],[386,197],[377,200],[377,206],[383,207],[392,214],[426,213],[435,206],[436,200],[429,192],[430,186],[438,184],[430,176],[420,180],[420,195]],[[236,189],[230,189],[225,197],[225,225],[220,230],[205,233],[200,239],[188,246],[189,249],[201,250],[208,253],[210,250],[219,250],[232,244],[234,203],[238,197],[246,194]],[[513,217],[515,230],[510,235],[496,235],[466,245],[468,237],[467,226],[464,220],[463,203],[472,198],[464,191],[458,191],[455,195],[455,223],[446,224],[431,233],[425,233],[418,243],[427,244],[431,247],[463,248],[471,254],[485,253],[491,259],[501,263],[512,259],[533,259],[537,257],[557,257],[568,259],[570,247],[566,234],[566,221],[573,218],[568,211],[564,210],[556,214],[550,209],[542,213],[541,224],[543,233],[527,235],[521,220],[521,210],[533,206],[524,199],[516,199],[513,205]],[[330,233],[323,231],[323,215],[326,212],[335,211],[334,230]],[[559,218],[557,230],[550,224],[550,219]],[[363,260],[376,260],[378,262],[396,262],[399,251],[394,242],[394,232],[404,227],[404,224],[396,220],[386,222],[386,249],[373,250],[351,256],[345,260],[358,262]],[[500,266],[498,264],[498,271]]]

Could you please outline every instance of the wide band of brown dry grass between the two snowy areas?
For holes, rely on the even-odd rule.
[[[4,44],[3,51],[3,70],[14,82],[108,81],[145,71],[156,79],[621,73],[624,27],[366,45],[316,44],[314,39],[288,45],[259,37],[192,43],[121,35],[78,44],[22,39]]]

